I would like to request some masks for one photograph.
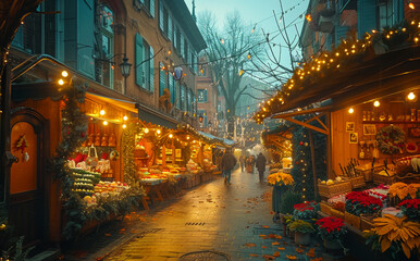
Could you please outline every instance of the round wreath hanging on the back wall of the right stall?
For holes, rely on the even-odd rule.
[[[384,154],[398,153],[404,146],[406,134],[394,125],[380,128],[376,134],[379,150]]]

